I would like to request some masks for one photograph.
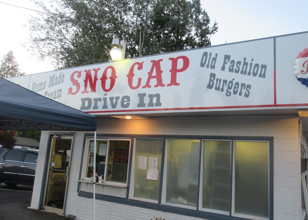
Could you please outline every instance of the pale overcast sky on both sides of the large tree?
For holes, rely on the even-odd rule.
[[[0,59],[12,50],[22,72],[26,74],[54,70],[48,61],[31,57],[22,46],[29,34],[27,19],[36,13],[14,6],[35,9],[30,0],[0,0]],[[212,45],[308,31],[307,0],[201,0],[218,32]],[[308,47],[308,42],[307,42]]]

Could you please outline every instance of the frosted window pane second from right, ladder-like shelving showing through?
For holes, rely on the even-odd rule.
[[[229,212],[231,141],[203,141],[202,207]]]

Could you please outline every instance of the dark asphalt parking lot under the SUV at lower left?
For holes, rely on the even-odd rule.
[[[70,219],[41,210],[29,209],[31,205],[32,186],[17,185],[6,186],[0,184],[0,219],[22,219],[22,220],[57,220]]]

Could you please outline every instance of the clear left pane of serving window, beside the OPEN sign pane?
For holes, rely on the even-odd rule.
[[[106,162],[107,140],[96,140],[96,153],[95,153],[95,173],[104,178],[105,162]],[[86,178],[91,178],[93,174],[94,164],[94,140],[89,141],[89,149],[87,156]]]

